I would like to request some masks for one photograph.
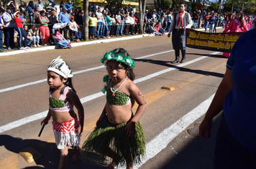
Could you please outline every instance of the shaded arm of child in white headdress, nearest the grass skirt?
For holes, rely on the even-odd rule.
[[[83,105],[78,97],[76,95],[76,92],[73,92],[73,90],[70,90],[67,94],[67,98],[70,102],[73,103],[73,105],[76,107],[78,110],[78,119],[79,119],[79,126],[77,129],[77,135],[81,135],[83,132],[83,121],[84,121],[84,110],[83,110]]]

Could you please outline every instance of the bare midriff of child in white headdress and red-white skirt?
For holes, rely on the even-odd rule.
[[[57,123],[69,122],[76,117],[76,113],[72,110],[70,112],[55,112],[51,110],[52,120]]]

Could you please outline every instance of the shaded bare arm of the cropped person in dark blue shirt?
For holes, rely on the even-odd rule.
[[[216,115],[219,114],[219,112],[221,112],[224,105],[224,101],[229,92],[232,90],[234,83],[232,81],[231,75],[232,70],[227,68],[226,73],[224,74],[224,77],[221,81],[221,84],[219,84],[218,90],[216,91],[214,99],[212,100],[211,105],[206,112],[204,120],[201,122],[201,125],[199,126],[199,135],[203,139],[210,137],[212,120]]]

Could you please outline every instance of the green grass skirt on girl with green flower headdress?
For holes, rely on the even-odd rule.
[[[91,135],[83,143],[83,153],[81,154],[83,162],[91,160],[93,152],[100,152],[98,162],[102,165],[106,160],[107,151],[111,148],[116,154],[115,157],[111,157],[115,159],[116,165],[130,164],[132,166],[141,163],[141,158],[145,155],[146,150],[142,126],[140,122],[137,122],[134,136],[128,137],[124,130],[126,125],[127,122],[113,125],[107,117],[104,117],[104,120],[94,128]]]

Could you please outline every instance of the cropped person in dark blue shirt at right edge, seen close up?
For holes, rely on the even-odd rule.
[[[222,110],[216,135],[214,168],[256,168],[256,29],[242,34],[227,60],[224,78],[199,126],[199,135],[211,135],[213,118]]]

